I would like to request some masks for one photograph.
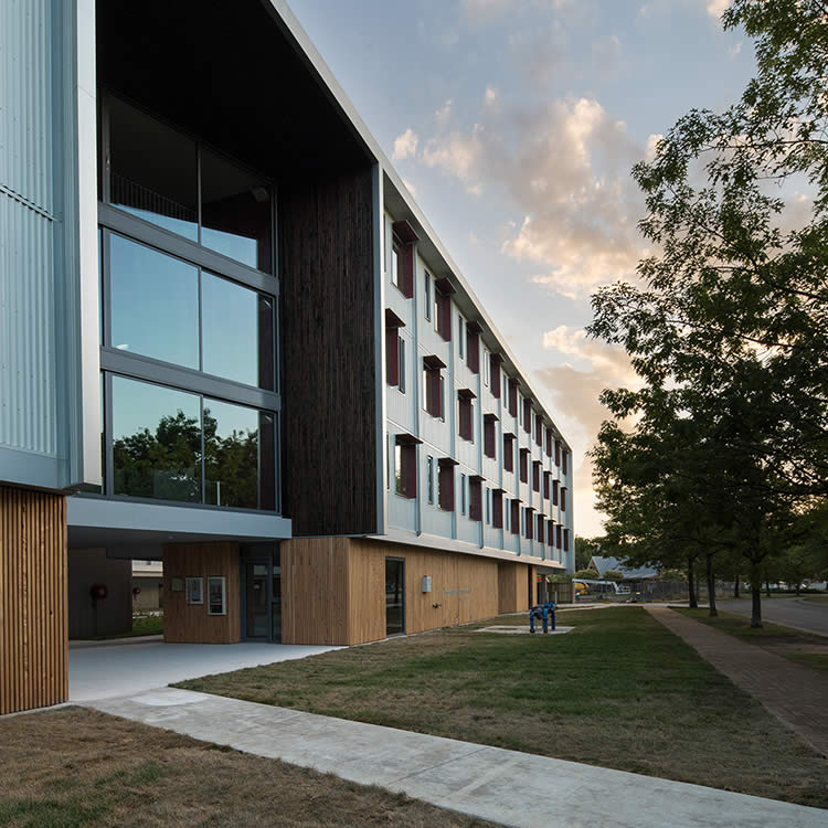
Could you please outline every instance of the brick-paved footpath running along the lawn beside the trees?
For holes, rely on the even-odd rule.
[[[828,675],[745,644],[669,607],[645,606],[654,618],[828,758]]]

